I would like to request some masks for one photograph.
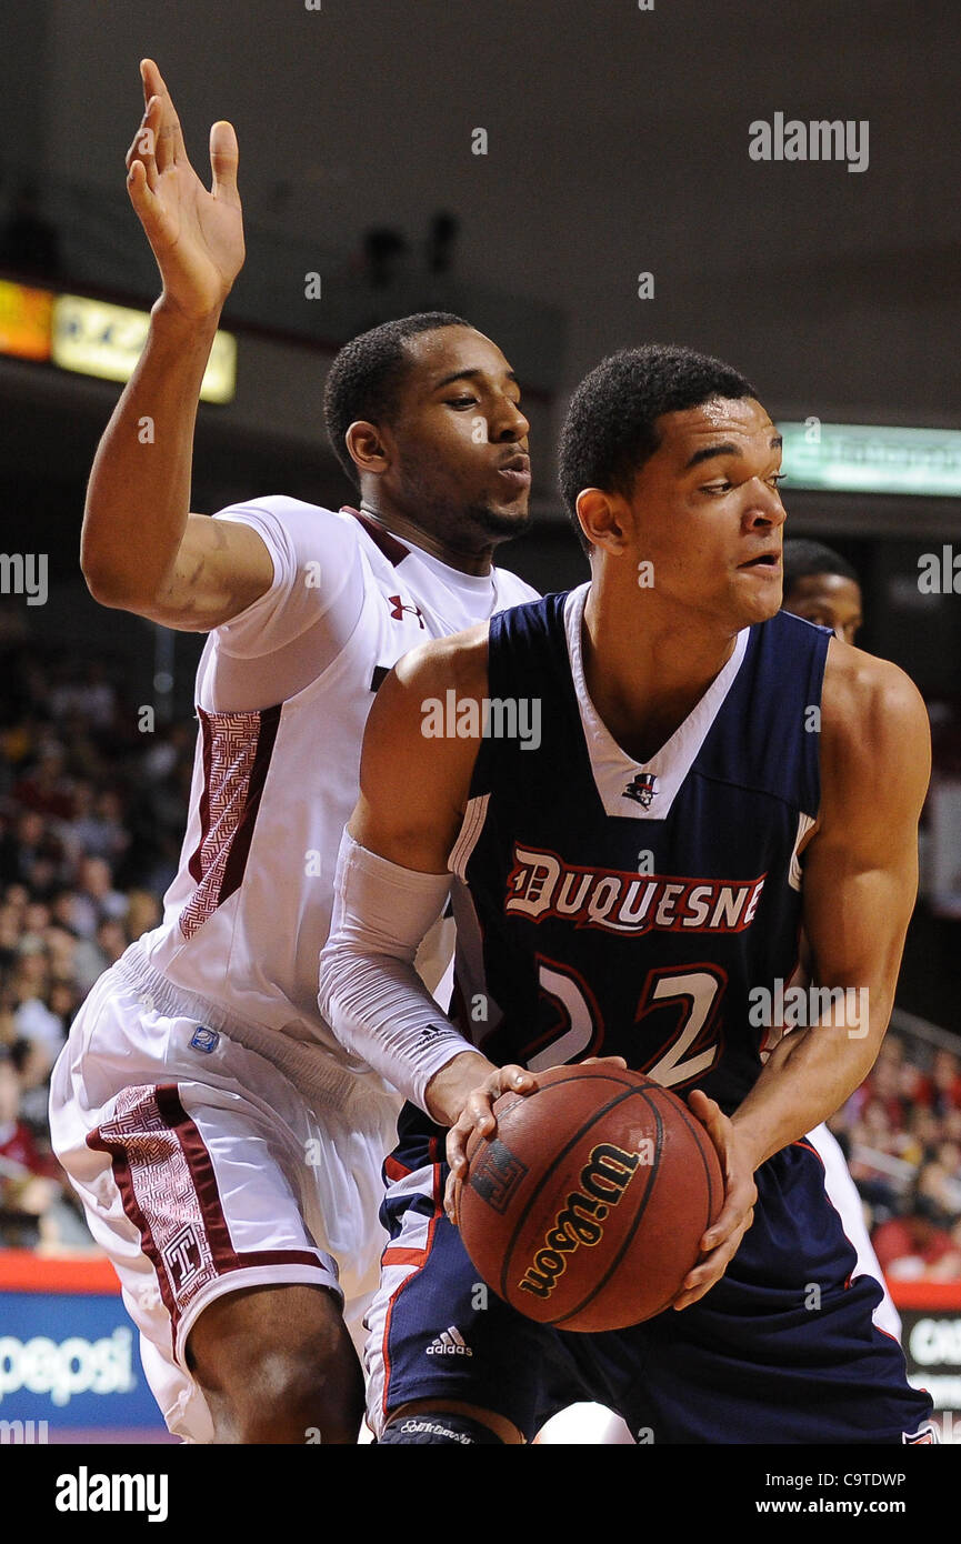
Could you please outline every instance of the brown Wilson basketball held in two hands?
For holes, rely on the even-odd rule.
[[[643,1073],[555,1067],[471,1133],[457,1197],[484,1282],[541,1325],[596,1332],[660,1314],[698,1260],[725,1184],[691,1110]]]

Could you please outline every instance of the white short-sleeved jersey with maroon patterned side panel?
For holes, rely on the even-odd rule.
[[[462,574],[354,511],[270,497],[219,517],[258,530],[275,581],[204,647],[181,866],[161,926],[130,946],[125,965],[153,996],[168,984],[173,1001],[213,1028],[320,1041],[343,1067],[349,1058],[317,1008],[317,971],[374,695],[409,648],[536,591],[505,570]],[[270,633],[283,644],[275,652]],[[244,681],[249,701],[269,698],[281,659],[289,679],[306,682],[292,695],[243,710],[212,706],[243,699]]]

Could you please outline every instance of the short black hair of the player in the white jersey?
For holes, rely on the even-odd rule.
[[[450,310],[422,310],[414,317],[383,321],[358,338],[345,343],[331,364],[324,388],[324,423],[334,454],[352,483],[358,483],[345,435],[352,423],[391,420],[397,411],[397,394],[409,364],[403,344],[419,332],[439,327],[470,327],[464,317]]]

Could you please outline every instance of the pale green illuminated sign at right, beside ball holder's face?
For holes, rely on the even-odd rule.
[[[780,423],[791,488],[961,497],[961,429]]]

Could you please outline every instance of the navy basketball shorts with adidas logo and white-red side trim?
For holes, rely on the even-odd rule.
[[[881,1288],[856,1255],[805,1141],[757,1170],[754,1223],[725,1277],[691,1308],[630,1329],[575,1334],[524,1319],[477,1277],[443,1215],[443,1133],[400,1121],[382,1220],[389,1244],[368,1315],[368,1419],[408,1400],[464,1400],[527,1439],[579,1400],[638,1442],[925,1441],[932,1400],[873,1322]]]

